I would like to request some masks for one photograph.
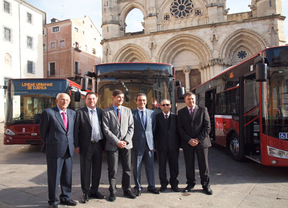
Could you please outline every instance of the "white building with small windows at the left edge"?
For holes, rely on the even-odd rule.
[[[1,0],[0,86],[11,78],[43,78],[43,25],[46,13],[20,0]],[[0,89],[0,122],[5,90]]]

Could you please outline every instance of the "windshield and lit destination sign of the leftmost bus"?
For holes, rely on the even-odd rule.
[[[39,123],[42,111],[55,106],[59,92],[66,92],[67,80],[14,79],[8,83],[5,122],[11,124]]]

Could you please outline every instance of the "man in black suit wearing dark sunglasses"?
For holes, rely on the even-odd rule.
[[[178,157],[180,138],[177,131],[177,115],[170,112],[171,102],[164,99],[160,104],[161,113],[156,115],[155,149],[159,163],[160,191],[166,190],[168,185],[166,165],[169,164],[170,185],[175,192],[179,192],[177,179],[179,174]]]

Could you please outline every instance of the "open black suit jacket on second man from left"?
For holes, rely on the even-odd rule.
[[[98,115],[99,126],[103,135],[102,115],[103,110],[96,108]],[[89,146],[91,145],[92,124],[89,117],[88,108],[80,108],[76,111],[76,120],[74,126],[74,145],[80,147],[80,154],[86,155]],[[103,149],[105,148],[105,137],[102,138]]]

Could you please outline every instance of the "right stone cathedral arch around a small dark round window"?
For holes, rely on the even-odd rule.
[[[245,51],[248,58],[267,46],[267,41],[257,32],[248,29],[239,29],[229,35],[222,43],[219,57],[223,59],[225,65],[234,65],[241,61],[237,60],[236,57],[238,51]]]

